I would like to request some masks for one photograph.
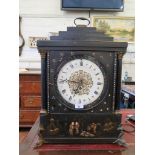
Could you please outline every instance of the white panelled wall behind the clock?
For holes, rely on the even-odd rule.
[[[126,16],[134,17],[134,0],[124,0],[124,12],[97,12],[91,11],[62,11],[60,0],[20,0],[20,15],[22,16],[21,30],[25,39],[25,46],[19,58],[19,68],[40,68],[40,55],[36,48],[30,48],[28,38],[48,37],[49,32],[66,30],[67,26],[74,26],[73,20],[76,17],[86,17],[92,19],[93,16]],[[123,72],[128,71],[128,75],[135,79],[134,44],[130,43],[128,53],[123,59]]]

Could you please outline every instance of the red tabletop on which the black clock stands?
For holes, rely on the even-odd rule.
[[[121,110],[123,114],[122,123],[125,123],[125,118],[128,114],[133,114],[134,110]],[[44,144],[38,149],[34,149],[38,142],[39,118],[33,125],[32,129],[26,138],[20,143],[20,155],[134,155],[135,153],[135,135],[134,133],[125,133],[124,139],[128,145],[127,148],[121,148],[118,145],[107,144],[82,144],[82,145],[52,145]],[[120,151],[122,150],[122,151]]]

